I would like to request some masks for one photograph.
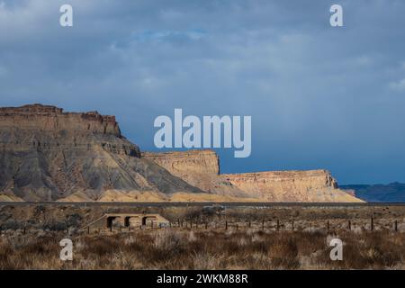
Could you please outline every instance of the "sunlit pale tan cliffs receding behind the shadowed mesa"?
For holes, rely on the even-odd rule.
[[[338,189],[327,170],[269,171],[220,175],[212,150],[143,153],[170,173],[210,193],[257,197],[270,202],[358,202]]]

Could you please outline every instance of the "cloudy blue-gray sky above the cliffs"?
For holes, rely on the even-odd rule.
[[[405,182],[404,14],[401,0],[0,0],[0,105],[115,114],[143,150],[175,108],[251,115],[251,156],[217,150],[222,172]]]

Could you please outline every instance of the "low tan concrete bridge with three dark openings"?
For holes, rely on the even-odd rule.
[[[98,229],[112,229],[139,227],[139,226],[166,226],[169,221],[159,214],[146,214],[146,213],[106,213],[97,220],[94,220],[85,228],[98,228]]]

